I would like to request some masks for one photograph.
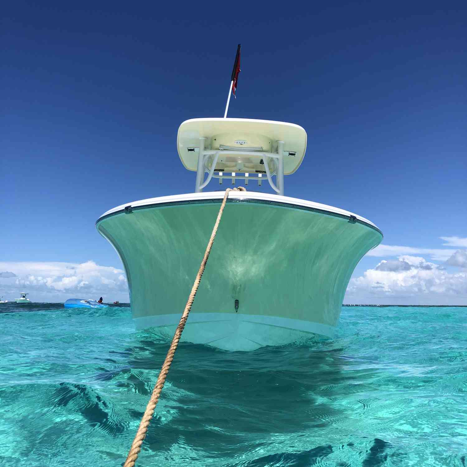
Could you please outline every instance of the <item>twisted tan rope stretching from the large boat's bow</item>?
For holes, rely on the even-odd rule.
[[[170,364],[174,358],[175,351],[177,350],[178,341],[182,336],[183,329],[185,327],[186,320],[191,310],[191,305],[196,296],[196,292],[198,291],[199,283],[201,282],[201,277],[203,276],[207,259],[209,258],[209,254],[211,253],[212,244],[214,243],[214,239],[216,238],[217,229],[219,228],[219,222],[222,217],[222,213],[224,212],[224,207],[226,205],[227,198],[229,196],[229,191],[247,191],[244,187],[240,186],[238,188],[227,188],[226,193],[224,195],[224,199],[222,200],[222,204],[220,205],[219,214],[217,215],[216,223],[214,224],[214,228],[212,229],[211,238],[206,247],[205,255],[203,261],[201,261],[201,266],[199,266],[198,274],[196,275],[195,282],[193,287],[191,288],[190,295],[188,297],[188,301],[186,302],[185,309],[182,314],[182,318],[180,318],[180,322],[178,323],[177,329],[175,330],[174,337],[172,339],[172,343],[170,344],[169,351],[167,352],[167,356],[165,357],[164,363],[161,368],[161,372],[159,373],[159,377],[157,378],[156,385],[151,394],[151,398],[149,399],[148,405],[146,406],[146,410],[144,411],[144,415],[141,419],[140,426],[136,435],[134,437],[133,443],[130,448],[130,452],[127,455],[127,460],[123,464],[123,467],[133,467],[136,459],[138,459],[138,454],[141,451],[141,445],[143,444],[144,438],[146,438],[146,434],[148,432],[149,423],[154,415],[154,410],[156,408],[156,404],[159,401],[159,396],[161,394],[162,388],[164,387],[165,378],[169,373]]]

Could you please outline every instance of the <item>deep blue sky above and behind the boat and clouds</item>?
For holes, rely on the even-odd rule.
[[[17,262],[121,269],[95,220],[129,201],[193,191],[177,128],[223,116],[241,42],[229,116],[290,121],[308,133],[285,194],[356,212],[381,228],[384,245],[412,248],[445,276],[464,274],[447,295],[397,295],[393,284],[380,301],[467,304],[466,269],[446,264],[451,253],[430,253],[467,247],[466,14],[460,1],[10,4],[0,272],[31,274]],[[353,277],[402,255],[366,256]],[[53,291],[38,297],[52,300]],[[61,292],[57,301],[71,290]]]

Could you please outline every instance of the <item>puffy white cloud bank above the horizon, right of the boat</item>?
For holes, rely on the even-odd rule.
[[[449,273],[422,257],[403,255],[352,278],[345,302],[467,304],[467,272]]]

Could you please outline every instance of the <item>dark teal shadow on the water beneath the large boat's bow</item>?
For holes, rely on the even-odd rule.
[[[166,342],[151,339],[140,344],[127,349],[127,368],[98,376],[116,380],[120,390],[134,394],[133,407],[141,407],[129,410],[134,420],[142,417],[142,401],[149,400],[168,348]],[[308,466],[336,449],[357,449],[352,439],[337,447],[323,443],[323,433],[339,430],[350,417],[353,409],[345,400],[355,392],[359,375],[359,384],[365,385],[368,372],[352,371],[353,365],[342,348],[322,341],[253,352],[181,343],[145,445],[158,453],[173,452],[174,446],[189,448],[206,460],[223,458],[223,465],[232,467]],[[366,449],[358,465],[381,465],[392,446],[364,438]],[[277,443],[276,451],[271,443]],[[251,451],[276,453],[252,458]],[[239,458],[240,463],[235,461]]]

